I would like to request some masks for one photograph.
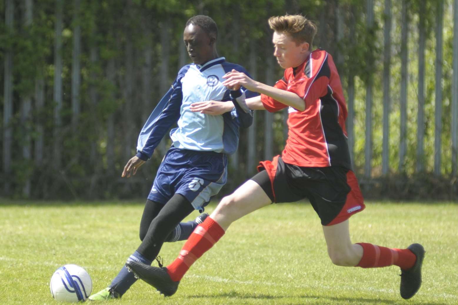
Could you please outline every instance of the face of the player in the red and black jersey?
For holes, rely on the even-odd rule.
[[[272,42],[273,56],[277,58],[278,64],[283,69],[299,66],[310,54],[308,43],[296,45],[293,39],[285,33],[274,32]]]

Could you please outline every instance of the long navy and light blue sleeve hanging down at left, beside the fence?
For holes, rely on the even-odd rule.
[[[154,108],[138,135],[136,156],[143,161],[151,158],[165,133],[180,118],[180,107],[183,100],[181,77],[187,70],[184,69],[180,70],[173,85]]]

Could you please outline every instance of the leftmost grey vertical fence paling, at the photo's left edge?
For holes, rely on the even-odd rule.
[[[14,31],[14,1],[5,0],[5,27],[8,34]],[[5,79],[3,91],[3,172],[4,177],[11,175],[12,130],[10,126],[13,115],[13,51],[5,50]],[[10,179],[5,179],[4,193],[10,193]]]

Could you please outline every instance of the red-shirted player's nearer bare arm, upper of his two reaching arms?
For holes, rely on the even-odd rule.
[[[297,94],[286,90],[278,89],[273,86],[268,86],[256,80],[252,80],[245,73],[232,70],[231,72],[226,73],[223,76],[223,78],[226,79],[223,82],[224,86],[244,86],[248,90],[270,96],[274,100],[283,103],[287,106],[291,106],[299,111],[305,110],[305,102]]]

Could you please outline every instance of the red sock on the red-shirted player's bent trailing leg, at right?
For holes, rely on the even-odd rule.
[[[377,268],[391,265],[399,266],[401,269],[412,268],[417,257],[409,249],[390,249],[368,243],[358,243],[363,247],[363,257],[357,267]]]

